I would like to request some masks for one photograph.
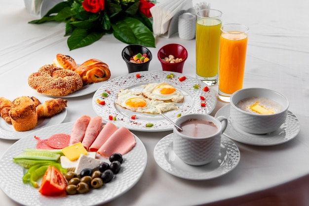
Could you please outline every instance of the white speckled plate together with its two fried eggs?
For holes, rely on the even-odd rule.
[[[139,77],[137,77],[137,74],[139,74]],[[156,113],[157,105],[162,106],[160,110],[163,110],[163,114],[173,121],[176,121],[179,114],[210,114],[214,110],[217,103],[216,95],[210,87],[208,91],[203,91],[203,88],[207,86],[206,83],[176,72],[172,73],[174,75],[173,78],[167,78],[169,74],[171,74],[171,72],[144,71],[130,73],[112,79],[102,85],[94,93],[92,98],[93,109],[104,121],[113,121],[118,127],[125,126],[135,131],[169,131],[173,129],[173,124]],[[186,77],[186,80],[180,82],[178,78],[183,76]],[[162,82],[164,82],[164,85],[162,85]],[[143,95],[146,86],[150,84],[153,87],[151,93],[154,95],[151,96],[151,98],[157,99],[151,99],[145,96],[145,94]],[[163,97],[161,97],[161,99],[158,97],[160,96],[160,91],[156,89],[158,87],[161,87],[161,92],[162,90],[164,91],[162,92]],[[126,91],[126,97],[124,99],[118,96],[120,90]],[[102,95],[103,93],[106,93],[107,96]],[[172,95],[175,98],[178,98],[177,94],[183,95],[183,99],[180,102],[177,102],[178,100],[174,100],[176,102],[165,100],[165,97],[168,96],[169,93],[175,94],[176,97]],[[132,103],[130,99],[136,96],[145,98],[145,100],[136,100]],[[205,100],[201,100],[200,96],[204,97]],[[121,99],[121,101],[119,99]],[[98,100],[101,102],[104,101],[105,104],[99,104]],[[154,103],[149,105],[149,100]],[[126,105],[123,105],[123,102]],[[205,107],[202,107],[201,103],[205,103]],[[147,108],[147,111],[143,111],[144,108]],[[132,116],[135,116],[135,119],[132,119]],[[146,126],[147,124],[153,125]]]

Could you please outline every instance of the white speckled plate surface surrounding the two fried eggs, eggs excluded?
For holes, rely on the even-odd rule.
[[[197,80],[196,78],[173,72],[174,78],[167,79],[166,76],[171,72],[165,71],[144,71],[138,72],[140,78],[136,77],[137,73],[130,73],[124,75],[109,82],[106,82],[100,87],[93,95],[92,106],[94,111],[103,118],[104,121],[110,121],[109,116],[116,117],[116,121],[113,121],[117,126],[125,126],[128,129],[136,131],[168,131],[173,129],[173,124],[165,120],[160,115],[132,112],[130,110],[121,108],[116,105],[115,100],[117,98],[118,91],[123,88],[129,88],[134,91],[142,91],[143,87],[147,83],[152,82],[167,82],[173,85],[176,89],[180,90],[185,95],[183,103],[176,103],[179,107],[178,110],[172,110],[165,112],[164,114],[173,121],[176,121],[177,115],[186,114],[210,114],[217,103],[215,92],[209,87],[209,91],[203,91],[203,87],[207,86],[206,83]],[[178,78],[186,76],[186,80],[180,82]],[[193,85],[198,84],[199,88],[194,89]],[[102,97],[102,93],[107,92],[109,96]],[[200,96],[205,97],[206,107],[201,107]],[[105,105],[100,105],[96,102],[97,99],[105,101]],[[132,120],[131,116],[136,115],[136,119]],[[154,124],[152,127],[146,127],[146,124]]]

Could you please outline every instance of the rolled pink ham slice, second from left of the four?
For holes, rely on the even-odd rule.
[[[89,149],[93,141],[97,138],[98,134],[100,133],[101,124],[102,124],[102,117],[97,116],[97,117],[91,118],[86,128],[84,138],[82,139],[82,142],[81,142],[82,146],[84,146],[86,150]]]

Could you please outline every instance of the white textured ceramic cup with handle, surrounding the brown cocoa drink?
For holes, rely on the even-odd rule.
[[[205,114],[184,115],[177,119],[181,125],[190,119],[206,120],[216,125],[217,131],[203,137],[184,135],[175,126],[173,128],[173,150],[175,154],[188,165],[205,165],[213,161],[220,153],[221,135],[228,125],[225,117],[214,118]]]

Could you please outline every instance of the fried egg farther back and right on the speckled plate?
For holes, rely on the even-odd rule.
[[[184,94],[166,82],[149,83],[142,85],[142,87],[144,87],[143,95],[150,99],[171,100],[172,102],[183,102],[184,100]]]

